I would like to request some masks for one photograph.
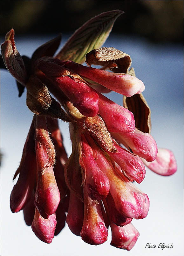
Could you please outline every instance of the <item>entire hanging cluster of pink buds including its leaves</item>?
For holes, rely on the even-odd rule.
[[[106,242],[110,228],[111,245],[129,251],[139,237],[131,222],[149,210],[149,198],[135,182],[144,180],[145,165],[164,176],[177,169],[172,151],[157,148],[150,134],[145,86],[131,68],[131,57],[100,48],[120,14],[115,10],[90,19],[56,56],[60,35],[31,58],[17,51],[13,29],[1,46],[19,96],[26,88],[34,113],[10,209],[23,210],[26,224],[45,243],[67,223],[90,245]],[[110,91],[123,95],[122,106],[104,95]],[[69,123],[69,157],[58,119]]]

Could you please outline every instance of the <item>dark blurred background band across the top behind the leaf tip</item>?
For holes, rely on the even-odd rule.
[[[152,42],[183,42],[183,1],[0,1],[1,36],[73,33],[101,12],[122,10],[114,33],[134,34]]]

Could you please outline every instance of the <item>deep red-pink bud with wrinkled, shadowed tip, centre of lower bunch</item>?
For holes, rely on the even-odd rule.
[[[92,148],[83,134],[81,134],[79,163],[86,173],[85,184],[89,197],[92,200],[106,198],[109,193],[109,179],[95,162],[92,156]]]

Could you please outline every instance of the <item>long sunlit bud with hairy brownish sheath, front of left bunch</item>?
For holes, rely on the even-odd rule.
[[[35,148],[37,157],[35,205],[40,215],[48,219],[49,215],[56,212],[60,201],[60,193],[53,171],[55,150],[45,124],[45,117],[37,116],[35,126]]]

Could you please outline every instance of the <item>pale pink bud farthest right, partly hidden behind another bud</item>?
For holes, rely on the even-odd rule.
[[[158,148],[158,154],[153,162],[142,159],[144,164],[153,172],[162,175],[173,175],[177,171],[177,163],[174,154],[167,148]]]

